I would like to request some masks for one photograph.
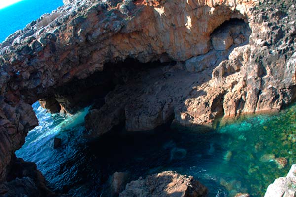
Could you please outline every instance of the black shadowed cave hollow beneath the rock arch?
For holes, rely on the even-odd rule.
[[[176,62],[170,60],[141,63],[133,58],[106,63],[103,71],[97,71],[85,79],[74,78],[63,86],[49,90],[47,96],[39,99],[39,102],[50,113],[74,114],[89,105],[99,108],[104,104],[106,94],[116,85],[125,84],[144,70],[174,64]]]

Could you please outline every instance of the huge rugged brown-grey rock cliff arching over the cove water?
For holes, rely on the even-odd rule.
[[[278,111],[296,97],[293,0],[64,2],[0,44],[0,181],[38,125],[37,100],[74,113],[103,99],[86,117],[99,136],[122,122],[139,131]]]

